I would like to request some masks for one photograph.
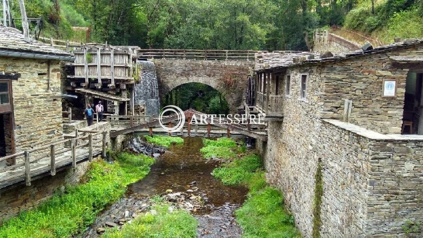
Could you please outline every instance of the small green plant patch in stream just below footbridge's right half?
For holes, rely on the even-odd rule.
[[[233,151],[233,148],[236,148],[236,142],[231,138],[222,137],[217,140],[203,139],[203,143],[206,147],[201,148],[200,151],[206,158],[230,159],[236,156],[236,153]]]

